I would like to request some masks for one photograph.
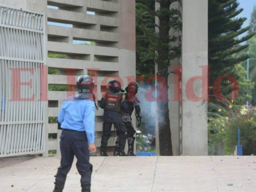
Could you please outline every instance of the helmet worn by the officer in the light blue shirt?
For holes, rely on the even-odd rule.
[[[81,75],[77,78],[76,86],[79,93],[92,93],[94,89],[94,80],[89,75]]]

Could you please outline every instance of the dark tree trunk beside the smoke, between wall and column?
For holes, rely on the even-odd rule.
[[[171,2],[169,0],[160,0],[161,9],[170,9]],[[171,127],[168,106],[168,66],[169,60],[169,32],[170,32],[170,17],[165,14],[160,14],[159,18],[159,38],[158,38],[158,72],[157,75],[164,77],[165,82],[158,81],[158,85],[165,89],[164,96],[161,95],[160,100],[157,101],[158,105],[158,132],[159,132],[159,150],[161,156],[172,156],[171,144]]]

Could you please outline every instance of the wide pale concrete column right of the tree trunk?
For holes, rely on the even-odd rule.
[[[207,156],[207,6],[207,0],[183,0],[182,155]]]

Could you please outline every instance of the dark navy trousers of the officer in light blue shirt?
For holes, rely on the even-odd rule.
[[[91,174],[89,162],[90,152],[85,132],[63,129],[60,136],[61,166],[58,173],[66,175],[72,166],[74,156],[77,158],[76,168],[80,175]]]

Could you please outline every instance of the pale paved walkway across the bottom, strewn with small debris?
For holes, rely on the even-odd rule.
[[[256,192],[256,156],[95,156],[91,163],[92,192]],[[52,192],[59,164],[0,158],[0,192]],[[81,192],[75,162],[63,192]]]

